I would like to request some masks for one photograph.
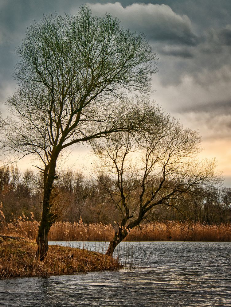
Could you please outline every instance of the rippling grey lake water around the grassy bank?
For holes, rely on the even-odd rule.
[[[131,268],[0,280],[0,306],[231,306],[231,242],[122,242],[117,255]]]

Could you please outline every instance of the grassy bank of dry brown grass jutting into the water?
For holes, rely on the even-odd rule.
[[[47,257],[35,257],[35,241],[0,238],[0,278],[75,274],[89,271],[118,270],[114,259],[84,249],[52,245]]]

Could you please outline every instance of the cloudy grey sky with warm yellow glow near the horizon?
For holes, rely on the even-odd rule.
[[[133,2],[0,0],[0,109],[15,92],[15,49],[26,26],[43,14],[77,14],[86,3],[94,14],[111,13],[123,28],[142,32],[159,57],[151,98],[202,136],[202,158],[215,158],[231,187],[231,1]],[[78,168],[86,149],[69,153]],[[32,163],[33,164],[33,163]],[[28,167],[28,161],[19,165]]]

